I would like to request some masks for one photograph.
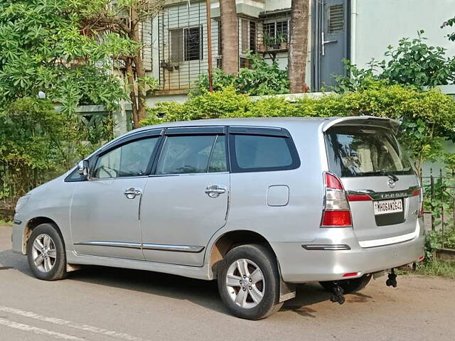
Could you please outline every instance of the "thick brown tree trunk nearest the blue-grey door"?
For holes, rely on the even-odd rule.
[[[306,56],[308,53],[309,0],[291,2],[291,40],[288,53],[289,90],[305,92]]]

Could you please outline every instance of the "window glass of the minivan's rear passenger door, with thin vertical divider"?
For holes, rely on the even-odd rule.
[[[225,136],[168,136],[156,174],[188,174],[227,171]]]

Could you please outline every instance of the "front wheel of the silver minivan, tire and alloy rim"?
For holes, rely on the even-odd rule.
[[[45,281],[66,276],[63,238],[53,224],[38,225],[28,239],[27,259],[33,275]]]

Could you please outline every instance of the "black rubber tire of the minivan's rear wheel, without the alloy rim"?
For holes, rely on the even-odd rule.
[[[262,276],[264,278],[264,282],[262,282],[262,285],[264,285],[264,287],[262,287],[262,299],[259,303],[252,302],[252,304],[257,304],[252,308],[243,308],[240,305],[237,305],[235,301],[233,301],[233,298],[231,298],[231,295],[235,295],[235,293],[232,292],[234,288],[229,289],[226,285],[228,270],[230,269],[230,266],[239,259],[247,259],[256,264],[260,271],[262,271]],[[241,245],[230,250],[223,259],[220,270],[218,271],[218,291],[220,292],[223,303],[225,303],[232,315],[247,320],[267,318],[282,307],[283,303],[279,303],[279,281],[280,278],[276,257],[272,251],[260,244]],[[259,285],[261,285],[260,282],[258,282],[258,286]],[[229,290],[231,290],[231,293]],[[237,293],[240,292],[240,290],[242,290],[242,288],[239,286]],[[252,296],[249,296],[249,298],[251,301]]]

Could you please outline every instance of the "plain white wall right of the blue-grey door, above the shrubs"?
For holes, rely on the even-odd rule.
[[[351,9],[356,20],[351,60],[359,67],[366,67],[371,58],[385,59],[388,45],[397,46],[403,37],[415,38],[421,29],[428,45],[442,46],[447,48],[446,55],[455,55],[455,43],[446,38],[455,27],[441,29],[441,24],[455,15],[455,0],[351,1],[357,3],[357,8]]]

